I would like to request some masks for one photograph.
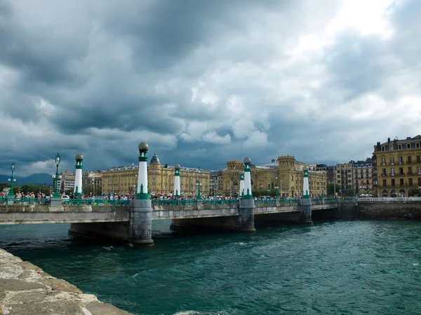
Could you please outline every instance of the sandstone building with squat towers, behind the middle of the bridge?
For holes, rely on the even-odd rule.
[[[282,197],[302,195],[302,181],[305,163],[293,156],[280,156],[266,165],[251,165],[252,190],[278,190]],[[227,168],[218,176],[218,195],[236,197],[239,195],[239,174],[244,169],[240,160],[230,160]],[[309,171],[309,188],[312,196],[326,195],[326,171]]]

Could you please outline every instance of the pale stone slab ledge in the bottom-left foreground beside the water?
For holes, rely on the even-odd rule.
[[[130,315],[0,248],[0,315]]]

